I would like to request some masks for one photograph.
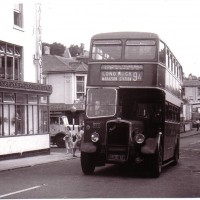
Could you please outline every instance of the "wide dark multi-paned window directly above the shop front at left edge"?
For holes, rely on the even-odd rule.
[[[0,79],[22,79],[21,52],[21,47],[0,42]]]

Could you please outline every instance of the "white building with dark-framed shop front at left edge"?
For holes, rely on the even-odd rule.
[[[1,4],[0,159],[49,152],[49,96],[41,84],[41,6]]]

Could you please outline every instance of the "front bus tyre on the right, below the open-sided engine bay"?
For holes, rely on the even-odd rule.
[[[160,176],[161,171],[162,171],[162,147],[159,146],[156,149],[155,154],[152,155],[151,159],[150,159],[150,175],[153,178],[157,178]]]

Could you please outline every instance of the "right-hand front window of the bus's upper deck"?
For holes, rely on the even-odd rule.
[[[154,40],[127,40],[125,59],[154,60],[156,58],[156,42]]]

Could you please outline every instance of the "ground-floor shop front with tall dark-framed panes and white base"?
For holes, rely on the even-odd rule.
[[[50,152],[50,85],[0,80],[0,160]]]

